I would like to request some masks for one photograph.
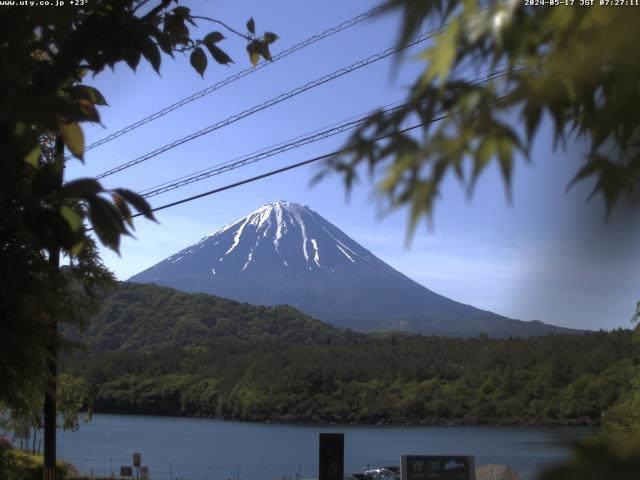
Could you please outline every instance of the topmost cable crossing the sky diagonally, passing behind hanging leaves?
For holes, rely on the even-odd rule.
[[[152,122],[154,120],[157,120],[160,117],[163,117],[171,112],[173,112],[174,110],[177,110],[178,108],[181,108],[195,100],[198,100],[206,95],[209,95],[210,93],[215,92],[216,90],[221,89],[222,87],[229,85],[230,83],[235,82],[236,80],[240,80],[243,77],[246,77],[247,75],[257,72],[258,70],[261,70],[263,68],[265,68],[266,66],[270,65],[271,63],[277,61],[277,60],[281,60],[293,53],[296,53],[297,51],[308,47],[309,45],[312,45],[316,42],[319,42],[320,40],[324,40],[327,37],[330,37],[331,35],[334,35],[336,33],[339,33],[343,30],[346,30],[347,28],[353,27],[354,25],[357,25],[358,23],[361,23],[369,18],[371,18],[372,16],[376,15],[377,13],[379,13],[382,10],[382,6],[378,6],[375,8],[372,8],[371,10],[365,12],[365,13],[361,13],[360,15],[357,15],[353,18],[350,18],[349,20],[346,20],[344,22],[342,22],[339,25],[336,25],[335,27],[331,27],[328,28],[327,30],[320,32],[316,35],[313,35],[309,38],[307,38],[306,40],[296,43],[295,45],[293,45],[292,47],[281,51],[280,53],[278,53],[277,55],[274,55],[271,59],[271,61],[262,61],[259,64],[257,64],[256,66],[252,66],[249,68],[245,68],[244,70],[235,73],[234,75],[231,75],[230,77],[225,78],[224,80],[221,80],[217,83],[214,83],[213,85],[210,85],[209,87],[200,90],[199,92],[196,92],[186,98],[183,98],[182,100],[179,100],[167,107],[164,107],[161,110],[158,110],[155,113],[152,113],[151,115],[142,118],[141,120],[138,120],[137,122],[134,122],[130,125],[127,125],[126,127],[118,130],[117,132],[112,133],[111,135],[108,135],[104,138],[101,138],[100,140],[97,140],[96,142],[90,144],[89,146],[87,146],[85,148],[85,151],[88,150],[92,150],[96,147],[99,147],[100,145],[104,145],[105,143],[108,143],[112,140],[115,140],[118,137],[121,137],[129,132],[131,132],[132,130],[135,130],[136,128],[139,128],[149,122]]]

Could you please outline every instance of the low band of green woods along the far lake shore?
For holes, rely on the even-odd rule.
[[[64,359],[97,412],[283,422],[598,424],[637,375],[631,332],[263,341]]]

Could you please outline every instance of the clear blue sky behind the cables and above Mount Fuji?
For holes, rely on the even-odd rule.
[[[275,54],[373,6],[370,1],[182,2],[194,13],[244,30],[253,16],[258,33],[276,32]],[[68,178],[96,175],[175,139],[315,80],[394,45],[398,19],[384,16],[316,43],[134,132],[91,150],[86,164],[69,164]],[[204,25],[203,33],[217,29]],[[164,58],[161,76],[147,65],[137,73],[119,65],[90,81],[107,98],[102,126],[85,129],[87,143],[246,68],[245,43],[225,32],[230,67],[210,61],[202,79],[187,57]],[[424,44],[421,48],[424,48]],[[248,154],[373,108],[402,100],[421,64],[407,55],[395,75],[384,60],[104,179],[109,187],[142,190]],[[518,121],[514,117],[514,121]],[[334,137],[228,174],[153,197],[157,206],[339,148]],[[136,240],[125,239],[118,257],[102,249],[119,279],[278,199],[306,204],[381,259],[422,285],[463,303],[522,320],[576,328],[629,327],[640,299],[638,212],[616,211],[605,225],[600,199],[585,204],[590,185],[565,188],[582,161],[584,146],[553,152],[548,129],[538,137],[531,163],[516,165],[513,201],[497,170],[482,176],[469,198],[447,179],[431,230],[418,228],[405,245],[407,212],[380,217],[374,185],[366,179],[350,200],[339,178],[310,187],[317,167],[206,197],[158,213],[160,224],[139,221]]]

